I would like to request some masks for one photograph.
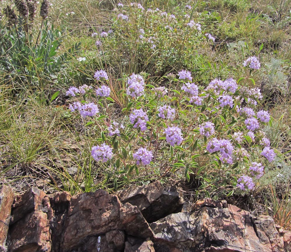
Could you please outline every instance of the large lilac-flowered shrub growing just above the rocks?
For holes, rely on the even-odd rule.
[[[199,88],[186,70],[167,78],[169,90],[146,84],[139,74],[125,78],[128,106],[118,116],[108,110],[107,102],[113,99],[110,92],[101,91],[108,90],[105,85],[96,91],[98,104],[106,104],[100,111],[93,102],[70,105],[72,112],[79,110],[83,118],[92,117],[101,130],[97,141],[103,144],[92,147],[93,158],[109,162],[114,171],[107,168],[106,173],[118,173],[118,180],[140,176],[146,165],[146,173],[155,171],[159,176],[183,170],[190,180],[194,174],[200,184],[198,192],[207,195],[219,188],[228,195],[234,190],[252,190],[276,157],[262,131],[270,115],[255,105],[262,98],[260,90],[249,87],[246,78],[237,82],[215,79]],[[77,99],[78,90],[70,87],[72,99]],[[92,88],[85,90],[92,93]]]

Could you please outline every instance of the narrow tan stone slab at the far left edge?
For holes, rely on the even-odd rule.
[[[0,245],[5,244],[6,241],[13,199],[14,193],[11,187],[3,185],[0,188]]]

